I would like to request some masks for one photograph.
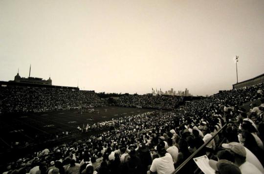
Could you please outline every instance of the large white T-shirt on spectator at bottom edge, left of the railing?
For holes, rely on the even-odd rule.
[[[157,172],[157,174],[171,174],[174,171],[173,158],[170,153],[166,153],[165,156],[155,158],[152,162],[151,172]]]

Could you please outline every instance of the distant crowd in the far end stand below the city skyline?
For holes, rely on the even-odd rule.
[[[116,104],[121,107],[142,107],[153,109],[174,109],[180,102],[182,96],[170,95],[123,95],[118,97]]]

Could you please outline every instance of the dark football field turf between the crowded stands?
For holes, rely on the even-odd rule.
[[[77,127],[80,126],[82,128],[83,124],[91,125],[96,122],[111,120],[112,118],[135,115],[152,110],[110,106],[95,108],[95,112],[93,113],[84,112],[82,114],[78,110],[1,114],[0,146],[2,149],[10,147],[11,142],[34,142],[36,135],[48,137],[52,134],[61,134],[63,131],[70,131],[73,134],[77,133]]]

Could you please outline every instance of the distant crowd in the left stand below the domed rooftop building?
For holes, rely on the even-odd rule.
[[[0,87],[0,112],[43,112],[104,105],[105,102],[94,91],[45,87]]]

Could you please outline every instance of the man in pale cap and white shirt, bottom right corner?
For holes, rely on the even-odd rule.
[[[246,150],[242,144],[237,142],[224,143],[222,147],[233,153],[235,164],[239,166],[242,174],[262,174],[256,166],[246,161]]]

